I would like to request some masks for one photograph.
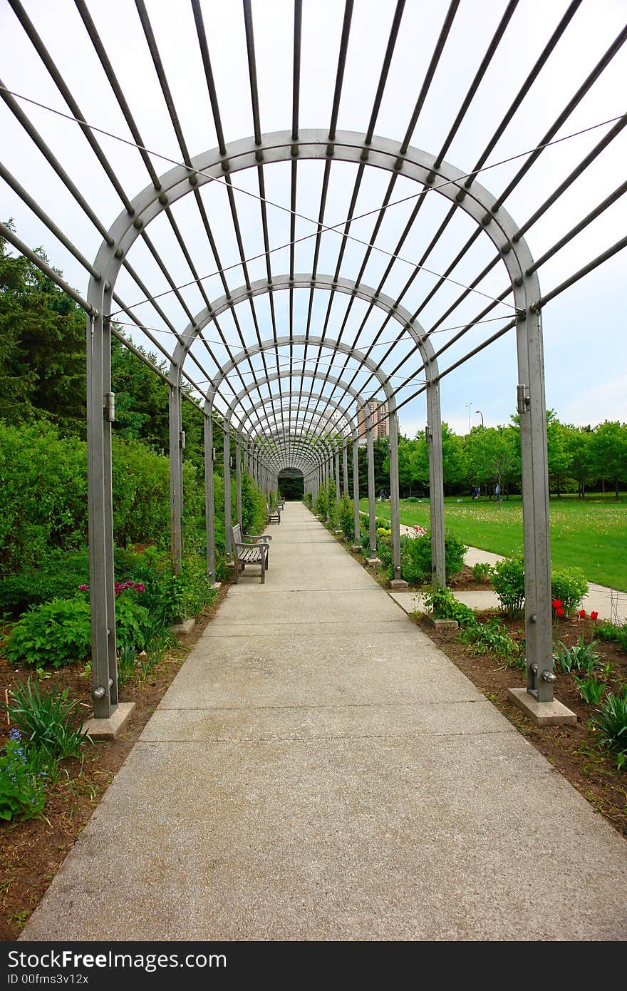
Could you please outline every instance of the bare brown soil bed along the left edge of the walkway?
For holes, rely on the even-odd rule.
[[[49,791],[44,817],[0,824],[0,939],[17,939],[20,935],[228,587],[227,583],[222,584],[218,599],[197,618],[190,633],[178,637],[177,645],[166,652],[147,681],[133,680],[121,689],[121,701],[135,703],[124,731],[116,740],[86,746],[82,769],[77,760],[63,762],[68,779],[59,781]],[[7,690],[25,683],[29,675],[33,675],[31,670],[16,670],[0,657],[1,700],[4,701]],[[80,669],[61,668],[42,682],[43,691],[49,688],[67,688],[69,697],[79,700],[84,718],[93,715],[91,674],[85,678],[81,677]],[[8,728],[6,723],[0,728],[0,746]]]

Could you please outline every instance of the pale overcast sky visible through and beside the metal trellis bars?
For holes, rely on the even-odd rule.
[[[180,161],[180,151],[166,116],[155,68],[135,4],[132,0],[89,0],[88,6],[115,71],[123,83],[146,146]],[[148,0],[147,6],[189,151],[192,156],[201,154],[214,148],[217,140],[190,5],[185,0]],[[226,141],[249,138],[253,134],[253,117],[242,5],[239,0],[204,0],[202,6]],[[24,0],[24,7],[85,118],[94,125],[129,138],[128,128],[73,2]],[[462,0],[451,37],[411,139],[412,146],[431,153],[440,150],[505,7],[505,0]],[[449,163],[465,171],[472,168],[567,7],[566,0],[520,0],[498,53],[447,152],[446,160]],[[394,8],[395,3],[390,0],[356,0],[338,121],[341,130],[360,133],[366,131]],[[375,126],[377,136],[393,141],[402,140],[447,8],[448,3],[443,0],[434,0],[429,4],[407,0]],[[299,114],[301,129],[324,130],[329,127],[343,9],[344,5],[339,0],[304,2]],[[253,11],[261,130],[265,133],[284,131],[291,127],[292,5],[282,0],[254,0]],[[488,163],[525,152],[539,143],[582,80],[623,28],[626,19],[625,0],[583,0],[548,65],[490,154]],[[0,5],[0,33],[3,38],[1,75],[4,85],[66,111],[62,97],[11,10],[8,0]],[[627,45],[616,55],[601,79],[570,116],[559,136],[624,113],[627,109],[626,81]],[[45,110],[26,104],[23,107],[96,214],[108,227],[119,214],[121,202],[76,125]],[[606,130],[608,128],[582,135],[543,153],[538,163],[506,200],[505,208],[517,223],[522,224],[527,220],[546,196],[594,147]],[[541,256],[581,216],[624,180],[626,133],[627,129],[531,228],[527,240],[534,257]],[[88,259],[94,258],[99,248],[100,235],[91,227],[4,104],[0,106],[0,134],[5,165],[18,176],[82,253]],[[149,183],[139,154],[109,138],[99,137],[98,140],[121,176],[126,192],[133,197]],[[157,172],[170,167],[157,159],[153,161]],[[519,166],[520,162],[499,165],[482,173],[480,181],[498,195]],[[324,219],[326,224],[337,224],[348,213],[356,166],[340,163],[334,165],[331,171]],[[266,197],[288,207],[289,165],[265,165],[264,173]],[[319,162],[302,162],[299,165],[297,209],[314,219],[318,216],[322,175],[323,165]],[[357,204],[358,213],[380,204],[388,179],[389,173],[386,171],[366,169]],[[235,174],[234,184],[251,192],[259,192],[254,169]],[[392,199],[415,192],[415,183],[400,178]],[[235,265],[240,256],[233,234],[226,191],[224,187],[212,183],[203,188],[202,196],[216,234],[221,261],[224,266]],[[243,193],[236,193],[236,200],[245,253],[250,258],[262,250],[259,202]],[[542,267],[539,275],[543,292],[549,291],[624,236],[627,228],[626,201],[627,196],[615,203],[565,250]],[[411,201],[389,208],[381,225],[377,245],[387,251],[393,250],[413,205],[414,201]],[[442,196],[432,193],[427,197],[419,220],[403,245],[403,260],[415,263],[420,258],[448,206],[449,201]],[[174,212],[200,274],[213,273],[214,260],[193,197],[187,196],[177,203]],[[9,217],[14,218],[19,236],[33,247],[43,246],[52,264],[63,270],[67,280],[85,294],[87,279],[81,267],[19,197],[0,182],[0,219],[6,220]],[[352,234],[368,241],[372,224],[371,217],[358,221],[352,228]],[[268,206],[268,228],[272,245],[289,241],[288,213]],[[315,231],[314,225],[298,220],[297,237],[312,231]],[[462,215],[459,219],[456,218],[426,262],[427,267],[436,273],[442,273],[472,231],[473,224],[468,217]],[[164,217],[157,218],[151,225],[150,235],[167,261],[176,282],[188,281],[189,269],[176,247]],[[296,272],[311,271],[313,249],[312,239],[296,246]],[[340,238],[337,234],[330,232],[323,235],[318,264],[320,273],[333,273],[339,249]],[[349,243],[342,275],[356,278],[364,253],[363,246]],[[468,257],[452,273],[452,277],[466,284],[492,255],[493,249],[487,239],[480,238]],[[136,243],[130,260],[153,291],[162,291],[168,287],[142,242]],[[367,285],[376,285],[387,263],[386,256],[372,253],[362,280]],[[287,273],[289,252],[276,252],[271,264],[273,275]],[[544,311],[547,402],[566,422],[585,424],[597,423],[606,418],[627,419],[626,264],[627,255],[624,252],[615,256],[548,304]],[[391,296],[398,293],[411,271],[410,265],[405,261],[397,261],[385,283],[384,292]],[[249,274],[252,279],[264,277],[264,262],[251,263]],[[229,274],[232,287],[243,281],[241,268],[234,269]],[[403,299],[403,304],[413,311],[434,282],[433,275],[421,273]],[[478,288],[488,295],[497,295],[506,284],[504,269],[497,267]],[[222,295],[224,291],[217,276],[207,279],[204,285],[212,299]],[[129,303],[142,298],[137,285],[126,274],[120,276],[117,288]],[[443,287],[420,314],[424,326],[428,328],[439,319],[460,291],[458,286],[452,284]],[[194,287],[185,290],[184,297],[192,312],[197,312],[204,305],[201,294]],[[312,334],[318,333],[324,322],[327,301],[327,293],[315,293]],[[287,333],[288,294],[276,293],[275,302],[278,332]],[[483,309],[486,302],[485,297],[470,294],[443,326],[451,327],[469,320]],[[296,332],[300,333],[304,329],[308,304],[308,292],[296,293]],[[175,298],[171,295],[163,297],[162,305],[168,317],[182,330],[186,318]],[[349,297],[342,297],[334,304],[329,324],[331,336],[335,336],[332,331],[339,330],[348,305]],[[242,306],[240,310],[241,326],[248,339],[255,334],[250,309],[247,306],[245,311]],[[149,326],[162,328],[162,323],[150,306],[138,307],[137,312]],[[505,317],[511,313],[511,307],[501,305],[495,312]],[[365,303],[356,303],[353,306],[351,320],[356,319],[356,330],[360,322],[357,318],[361,319],[365,313]],[[270,312],[266,296],[259,298],[258,315],[261,336],[270,337]],[[494,314],[490,314],[492,315]],[[362,331],[362,341],[371,340],[380,322],[380,313],[368,318]],[[222,325],[228,340],[236,342],[238,335],[233,320],[225,316]],[[473,330],[467,335],[464,348],[454,346],[447,352],[447,361],[442,367],[460,357],[467,348],[474,347],[497,326],[498,324],[486,324]],[[356,330],[353,333],[347,332],[347,338],[352,339]],[[211,336],[209,332],[207,336]],[[391,325],[388,325],[382,338],[389,340],[391,336]],[[140,340],[137,336],[135,339]],[[161,331],[159,339],[167,347],[171,347],[170,335]],[[441,334],[434,338],[434,342],[440,344],[446,339],[447,335]],[[219,347],[215,350],[218,356],[224,356],[225,352]],[[383,350],[385,349],[379,348],[376,354],[381,354]],[[403,354],[407,350],[405,348]],[[197,353],[200,355],[200,351]],[[208,366],[209,370],[211,367]],[[389,363],[385,366],[387,371],[391,367]],[[355,364],[350,368],[354,369]],[[194,374],[200,377],[197,370]],[[481,410],[486,426],[506,422],[515,404],[516,382],[515,338],[510,332],[443,381],[443,417],[458,432],[466,432],[469,429],[470,404],[470,422],[473,425],[480,422],[476,410]],[[394,380],[394,385],[398,384],[399,380]],[[408,391],[401,393],[401,399],[404,394],[408,394]],[[401,410],[401,429],[406,433],[413,434],[422,427],[424,420],[424,397]]]

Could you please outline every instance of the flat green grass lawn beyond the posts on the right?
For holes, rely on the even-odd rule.
[[[367,499],[360,507],[367,509]],[[389,502],[377,502],[376,512],[389,519]],[[400,521],[429,527],[429,499],[401,499]],[[449,497],[445,521],[472,547],[494,554],[522,550],[520,496],[500,504]],[[627,591],[627,501],[603,495],[552,498],[551,558],[554,568],[575,566],[589,582]]]

